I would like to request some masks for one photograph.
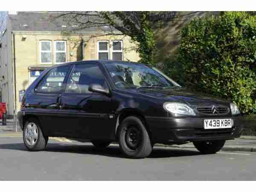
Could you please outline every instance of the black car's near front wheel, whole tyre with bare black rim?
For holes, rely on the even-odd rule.
[[[148,157],[153,148],[145,125],[136,116],[128,116],[122,121],[118,140],[122,152],[128,158]]]

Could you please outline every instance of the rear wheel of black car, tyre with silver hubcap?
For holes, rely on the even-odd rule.
[[[37,119],[31,118],[26,121],[23,130],[23,142],[29,151],[41,151],[46,147],[48,137],[44,136]]]

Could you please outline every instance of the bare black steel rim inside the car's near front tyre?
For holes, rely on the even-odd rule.
[[[142,135],[138,128],[130,127],[125,133],[125,143],[130,149],[136,150],[140,146],[141,137]]]

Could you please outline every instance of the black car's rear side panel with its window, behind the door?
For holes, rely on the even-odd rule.
[[[70,65],[62,65],[50,70],[35,88],[30,98],[28,114],[37,115],[44,133],[53,136],[58,128],[59,95],[66,87]]]

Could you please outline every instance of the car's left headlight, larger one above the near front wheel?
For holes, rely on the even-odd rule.
[[[181,115],[195,115],[195,112],[188,105],[183,103],[172,103],[166,102],[163,104],[163,108],[171,113],[181,114]]]

